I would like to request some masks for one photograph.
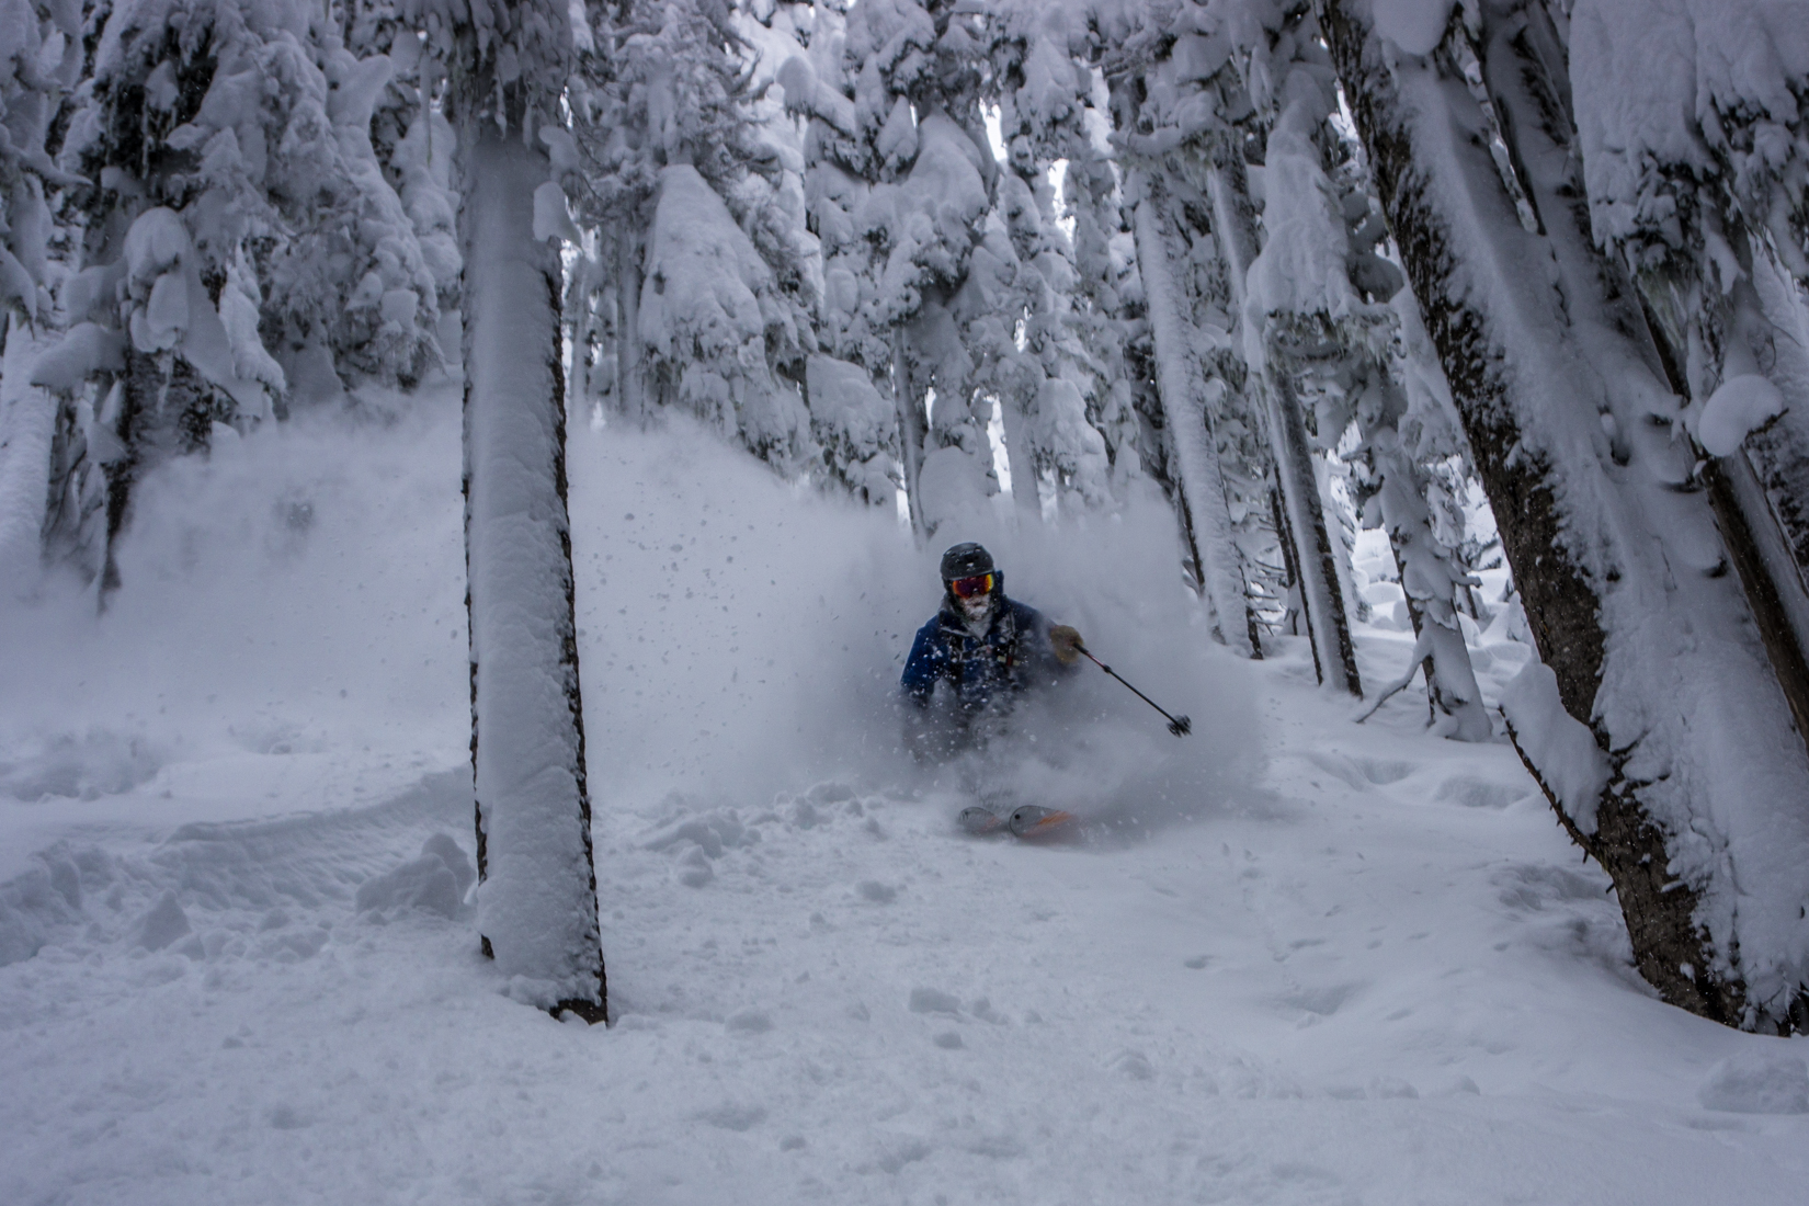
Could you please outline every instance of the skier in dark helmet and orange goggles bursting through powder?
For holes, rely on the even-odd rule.
[[[926,758],[971,743],[982,718],[997,718],[1028,687],[1049,683],[1080,656],[1080,633],[1006,598],[1004,575],[982,546],[942,553],[942,609],[917,629],[899,685],[906,700],[906,741]],[[935,683],[953,693],[952,723],[930,714]]]

